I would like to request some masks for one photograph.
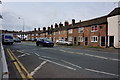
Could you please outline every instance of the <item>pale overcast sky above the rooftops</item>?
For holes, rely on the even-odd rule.
[[[3,2],[2,29],[25,31],[72,19],[85,21],[109,14],[116,2]],[[19,19],[19,17],[21,19]]]

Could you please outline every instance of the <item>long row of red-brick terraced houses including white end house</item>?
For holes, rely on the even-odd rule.
[[[72,41],[79,46],[98,46],[120,48],[120,7],[115,8],[108,15],[87,21],[68,21],[55,23],[51,27],[43,27],[43,30],[27,32],[28,40],[47,37],[52,41],[64,39]]]

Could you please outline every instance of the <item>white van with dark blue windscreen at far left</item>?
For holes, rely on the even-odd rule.
[[[3,44],[13,44],[13,34],[2,34],[2,43]]]

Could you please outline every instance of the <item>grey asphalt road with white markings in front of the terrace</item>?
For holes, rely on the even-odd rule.
[[[33,42],[4,45],[10,49],[33,78],[118,78],[118,53],[67,48],[64,46],[38,47]],[[11,74],[20,78],[17,69]],[[11,76],[14,78],[14,76]]]

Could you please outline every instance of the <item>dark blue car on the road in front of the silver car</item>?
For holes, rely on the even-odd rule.
[[[39,45],[44,47],[53,47],[54,43],[47,38],[39,38],[36,41],[36,46],[39,46]]]

